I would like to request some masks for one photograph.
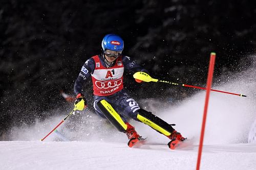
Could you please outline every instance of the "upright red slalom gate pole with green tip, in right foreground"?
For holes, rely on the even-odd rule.
[[[198,149],[197,170],[199,170],[200,162],[201,162],[201,155],[202,155],[202,149],[203,149],[203,140],[204,140],[204,130],[205,130],[205,124],[206,124],[206,116],[207,116],[207,109],[208,109],[208,103],[209,103],[212,76],[214,75],[215,58],[216,58],[216,54],[211,53],[210,54],[209,69],[208,69],[207,85],[206,85],[204,115],[203,115],[202,129],[201,129],[200,144],[199,144],[199,149]]]

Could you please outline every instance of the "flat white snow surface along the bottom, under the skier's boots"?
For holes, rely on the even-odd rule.
[[[198,145],[129,148],[123,142],[1,141],[1,169],[196,169]],[[204,145],[201,169],[255,169],[256,145]]]

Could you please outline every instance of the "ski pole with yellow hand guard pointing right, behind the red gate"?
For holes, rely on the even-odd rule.
[[[133,75],[133,77],[135,79],[139,79],[142,80],[144,82],[162,82],[162,83],[168,83],[168,84],[172,84],[172,85],[179,85],[179,86],[184,86],[184,87],[191,87],[191,88],[198,88],[198,89],[203,89],[206,90],[206,88],[204,87],[199,87],[199,86],[191,86],[191,85],[187,85],[187,84],[178,84],[178,83],[173,83],[173,82],[169,82],[169,81],[164,81],[164,80],[158,80],[158,79],[153,79],[152,77],[150,77],[150,75],[146,74],[145,72],[135,72],[135,74]],[[227,92],[227,91],[221,91],[221,90],[215,90],[215,89],[210,89],[211,91],[216,91],[216,92],[221,92],[221,93],[227,93],[227,94],[233,94],[233,95],[238,95],[240,97],[246,97],[246,95],[244,94],[237,94],[237,93],[232,93],[232,92]]]

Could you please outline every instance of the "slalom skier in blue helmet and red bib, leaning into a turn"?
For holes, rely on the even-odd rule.
[[[148,71],[141,68],[130,57],[122,55],[124,43],[120,36],[116,34],[105,35],[101,47],[102,54],[88,59],[83,64],[75,81],[74,92],[77,109],[83,110],[87,107],[87,100],[82,93],[82,88],[91,76],[96,113],[103,118],[107,118],[120,132],[127,135],[129,147],[133,147],[135,143],[139,143],[143,138],[127,122],[125,116],[142,122],[167,136],[170,139],[169,148],[175,149],[179,145],[178,143],[186,138],[182,137],[172,125],[167,124],[151,112],[140,108],[137,102],[123,89],[124,69],[130,69],[134,72],[143,71],[147,74]],[[141,83],[142,81],[136,80],[136,82]]]

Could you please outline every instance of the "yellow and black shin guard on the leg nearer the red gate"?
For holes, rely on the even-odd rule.
[[[169,136],[174,131],[174,128],[164,120],[143,109],[138,110],[137,119],[165,136]]]

